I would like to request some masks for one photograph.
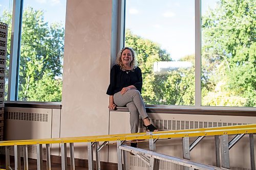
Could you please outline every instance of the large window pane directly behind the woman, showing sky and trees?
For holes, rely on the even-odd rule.
[[[195,105],[194,0],[126,1],[125,46],[133,47],[150,105]]]

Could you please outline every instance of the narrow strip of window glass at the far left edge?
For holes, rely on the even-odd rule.
[[[0,88],[5,87],[5,100],[7,100],[7,92],[8,92],[8,74],[9,74],[9,61],[10,61],[11,30],[12,30],[12,8],[13,8],[13,0],[0,2],[0,21],[8,25],[5,86],[3,86],[4,84],[2,84],[2,82],[0,83]]]

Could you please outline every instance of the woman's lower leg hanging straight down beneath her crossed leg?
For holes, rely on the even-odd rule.
[[[126,106],[130,111],[131,133],[137,133],[139,130],[139,118],[140,118],[137,107],[133,102],[127,103]]]

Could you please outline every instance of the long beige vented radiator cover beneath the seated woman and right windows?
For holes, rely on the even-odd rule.
[[[197,128],[211,128],[234,125],[246,125],[256,122],[256,117],[249,116],[220,116],[220,115],[189,115],[189,114],[167,114],[167,113],[149,113],[151,123],[159,130],[185,130]],[[129,112],[111,112],[110,113],[110,134],[130,133]],[[140,120],[139,132],[143,132],[142,120]],[[229,140],[233,135],[229,136]],[[193,142],[196,137],[190,137],[189,142]],[[255,145],[255,143],[254,143]],[[148,150],[148,142],[138,143],[138,147]],[[256,148],[256,145],[255,147]],[[183,158],[182,138],[160,140],[156,143],[156,151],[161,154]],[[110,146],[109,161],[117,162],[116,148]],[[239,153],[239,154],[238,154]],[[249,138],[245,135],[232,149],[230,149],[230,168],[245,170],[250,169],[249,157]],[[215,140],[214,136],[205,137],[191,152],[190,160],[216,165],[215,160]],[[138,157],[127,154],[127,164],[132,170],[146,170],[147,165]],[[160,161],[161,170],[179,170],[183,166]]]

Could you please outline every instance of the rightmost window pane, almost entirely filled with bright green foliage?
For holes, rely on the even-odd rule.
[[[202,105],[256,106],[255,1],[202,1]]]

